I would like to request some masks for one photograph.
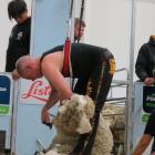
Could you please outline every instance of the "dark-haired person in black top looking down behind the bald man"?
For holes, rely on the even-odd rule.
[[[6,72],[18,73],[16,62],[20,56],[30,53],[31,18],[28,16],[27,3],[23,0],[12,0],[8,4],[9,19],[17,24],[12,28],[6,58]]]

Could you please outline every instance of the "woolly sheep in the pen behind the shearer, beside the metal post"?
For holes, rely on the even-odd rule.
[[[108,111],[112,112],[110,113]],[[117,152],[117,155],[124,155],[125,106],[106,103],[103,107],[102,115],[107,121],[111,121],[110,127],[113,133],[113,140],[115,144],[118,144],[117,146],[114,145],[114,152]]]

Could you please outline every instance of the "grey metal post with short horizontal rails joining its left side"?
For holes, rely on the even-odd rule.
[[[113,103],[126,103],[126,112],[125,112],[125,145],[124,151],[125,155],[131,155],[133,152],[133,112],[134,112],[134,51],[135,51],[135,24],[136,24],[136,1],[132,0],[131,3],[131,45],[130,45],[130,65],[127,69],[120,69],[116,72],[126,71],[127,73],[127,80],[126,81],[120,81],[120,80],[113,80],[112,87],[115,86],[124,86],[126,85],[126,100],[115,99]]]

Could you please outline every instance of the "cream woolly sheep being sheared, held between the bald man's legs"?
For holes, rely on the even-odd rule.
[[[90,118],[93,117],[93,114],[94,103],[89,96],[74,94],[70,101],[63,101],[53,120],[58,134],[45,155],[68,155],[71,153],[80,135],[91,132]],[[111,155],[112,147],[113,136],[110,125],[101,115],[91,155]]]

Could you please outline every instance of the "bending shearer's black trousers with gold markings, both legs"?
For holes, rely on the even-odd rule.
[[[107,53],[105,52],[105,54],[101,56],[99,63],[92,70],[89,82],[81,79],[78,81],[75,92],[83,93],[82,91],[86,87],[85,94],[87,94],[95,103],[95,113],[93,117],[92,132],[90,134],[81,135],[72,155],[91,155],[97,132],[100,112],[102,111],[104,102],[107,97],[114,71],[115,62],[113,55],[108,54],[107,51]],[[81,87],[83,87],[83,90],[81,90]],[[87,142],[86,146],[85,142]]]

